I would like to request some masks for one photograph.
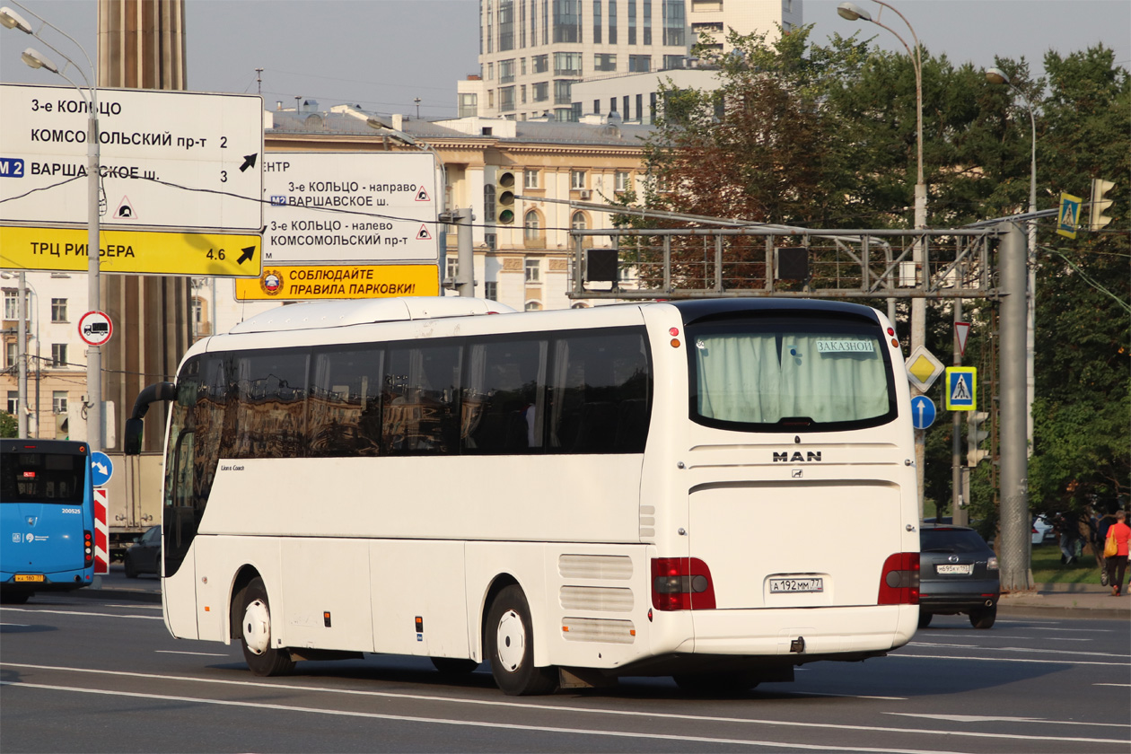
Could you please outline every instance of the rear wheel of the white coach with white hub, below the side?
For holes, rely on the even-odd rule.
[[[484,633],[491,675],[504,694],[533,696],[558,691],[556,668],[534,666],[534,623],[520,587],[506,587],[494,598]]]

